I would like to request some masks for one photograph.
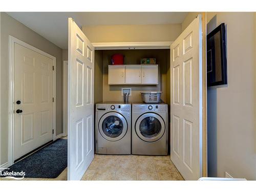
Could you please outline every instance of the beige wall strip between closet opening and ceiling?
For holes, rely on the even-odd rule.
[[[181,24],[83,26],[82,31],[91,42],[173,41]]]

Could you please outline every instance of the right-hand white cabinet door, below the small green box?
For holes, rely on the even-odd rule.
[[[142,84],[158,84],[158,66],[141,66]]]

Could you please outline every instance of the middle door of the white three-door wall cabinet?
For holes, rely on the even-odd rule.
[[[126,84],[141,84],[141,66],[126,66]]]

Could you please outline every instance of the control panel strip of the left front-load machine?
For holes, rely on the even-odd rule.
[[[96,111],[117,111],[117,112],[131,112],[131,104],[96,104]]]

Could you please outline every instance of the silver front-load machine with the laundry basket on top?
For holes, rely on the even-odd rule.
[[[132,104],[132,154],[167,155],[168,105]]]

